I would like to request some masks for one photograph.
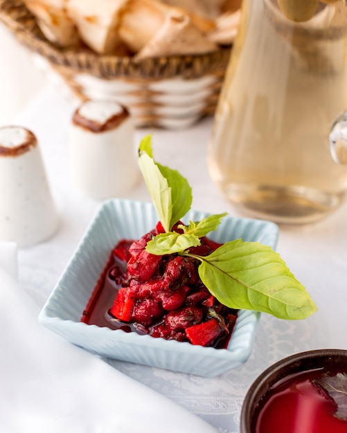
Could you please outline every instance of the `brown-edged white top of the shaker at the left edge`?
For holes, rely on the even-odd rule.
[[[0,127],[0,157],[19,156],[37,146],[35,135],[26,128]]]

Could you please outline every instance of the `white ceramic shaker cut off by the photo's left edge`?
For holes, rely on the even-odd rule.
[[[31,246],[58,222],[37,138],[24,127],[1,127],[0,240]]]

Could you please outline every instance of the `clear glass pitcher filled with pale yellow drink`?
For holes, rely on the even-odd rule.
[[[298,22],[286,1],[317,7]],[[243,0],[208,167],[251,216],[310,223],[346,198],[347,6],[326,1]]]

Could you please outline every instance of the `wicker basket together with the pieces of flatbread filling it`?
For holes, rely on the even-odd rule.
[[[198,4],[202,12],[181,13],[180,7],[170,4],[179,1],[186,7],[192,3],[195,10]],[[107,3],[121,5],[117,13],[122,25],[119,17],[115,24],[114,15],[103,10],[102,4],[108,7]],[[154,18],[143,21],[145,12],[134,10],[136,3],[141,8],[159,4],[165,19],[160,21],[153,13]],[[49,76],[60,77],[81,100],[116,100],[130,109],[137,127],[176,129],[215,111],[237,33],[240,0],[231,0],[232,6],[222,15],[217,3],[226,7],[230,1],[215,0],[215,10],[213,3],[0,0],[0,20],[35,54]],[[101,28],[96,25],[100,23]]]

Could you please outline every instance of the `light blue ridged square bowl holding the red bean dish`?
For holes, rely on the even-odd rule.
[[[208,214],[190,211],[184,222]],[[247,361],[260,313],[240,311],[227,349],[153,338],[80,322],[111,250],[120,239],[139,239],[157,224],[152,203],[112,199],[96,214],[42,311],[39,322],[69,342],[92,353],[142,365],[212,377]],[[269,221],[226,216],[209,234],[218,242],[242,238],[276,248],[278,226]]]

